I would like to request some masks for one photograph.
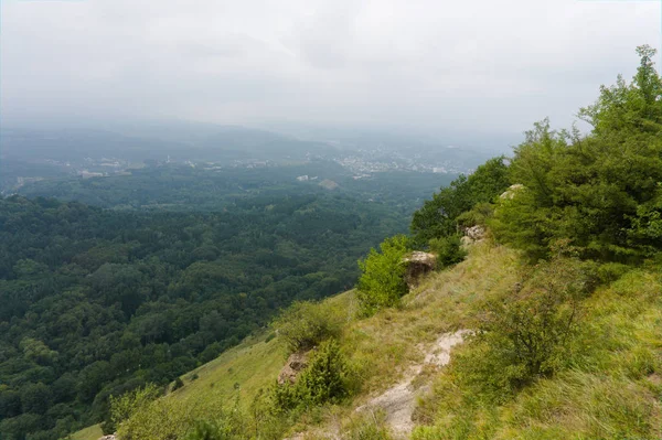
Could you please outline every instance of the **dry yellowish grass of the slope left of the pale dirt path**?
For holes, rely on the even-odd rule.
[[[406,365],[420,361],[423,353],[417,344],[433,342],[440,333],[465,328],[474,300],[493,290],[510,288],[515,281],[515,254],[503,247],[480,246],[473,249],[467,261],[427,279],[416,294],[405,298],[401,309],[385,310],[356,321],[351,318],[355,308],[353,291],[328,299],[333,305],[346,310],[348,324],[341,344],[363,380],[354,405],[396,383]],[[218,400],[231,403],[237,396],[235,384],[238,384],[241,404],[248,405],[260,388],[276,379],[285,364],[286,352],[278,339],[265,340],[266,335],[248,339],[182,376],[185,386],[169,398],[190,405]],[[193,374],[199,376],[194,380]],[[351,412],[350,407],[334,408],[322,415],[322,423],[327,418],[350,417]],[[298,426],[293,431],[303,428]],[[76,439],[98,438],[96,432],[86,437],[84,432],[77,432]]]

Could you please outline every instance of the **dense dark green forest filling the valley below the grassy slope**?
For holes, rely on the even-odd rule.
[[[293,300],[350,288],[398,214],[343,196],[225,212],[0,200],[0,432],[57,439],[110,395],[207,362]]]

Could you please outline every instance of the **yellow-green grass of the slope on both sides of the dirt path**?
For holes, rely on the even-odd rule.
[[[348,313],[341,345],[362,377],[351,405],[327,408],[302,420],[307,425],[345,425],[353,408],[398,380],[412,362],[419,362],[421,342],[440,333],[470,328],[483,300],[512,290],[521,267],[514,251],[490,244],[474,246],[455,268],[429,277],[403,307],[366,320],[352,320],[354,299],[345,292],[328,301]],[[417,439],[643,439],[662,438],[662,305],[659,275],[632,271],[600,288],[586,302],[585,332],[576,366],[541,380],[512,401],[484,409],[468,405],[461,393],[448,395],[449,372],[436,374],[438,385],[421,409],[429,428]],[[185,386],[169,398],[201,404],[252,401],[259,388],[275,380],[285,361],[277,339],[245,341],[218,358],[183,376]],[[465,350],[465,348],[460,348]],[[453,412],[455,411],[455,412]],[[460,416],[460,417],[458,417]],[[457,421],[466,422],[458,428]],[[455,423],[455,425],[453,425]],[[630,436],[630,432],[634,432]],[[96,437],[77,439],[96,440]]]

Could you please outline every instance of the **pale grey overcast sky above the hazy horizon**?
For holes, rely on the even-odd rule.
[[[7,120],[521,132],[660,46],[661,1],[0,0]],[[659,60],[659,58],[658,58]]]

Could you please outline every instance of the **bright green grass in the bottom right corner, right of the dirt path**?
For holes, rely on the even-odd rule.
[[[446,369],[421,412],[415,440],[662,438],[662,279],[632,270],[583,302],[568,366],[502,405],[462,386]],[[470,344],[459,353],[470,353]]]

